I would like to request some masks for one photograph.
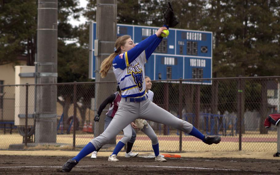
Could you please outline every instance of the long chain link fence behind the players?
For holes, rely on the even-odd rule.
[[[271,113],[279,113],[279,78],[238,77],[153,81],[151,90],[154,92],[155,104],[193,124],[204,135],[222,137],[220,144],[207,145],[176,128],[149,121],[158,136],[160,151],[277,150],[277,128],[273,126],[265,128],[264,120]],[[94,122],[94,116],[99,108],[95,100],[96,83],[55,84],[57,86],[56,142],[60,147],[82,148],[94,138],[94,133],[103,130],[109,105],[103,110],[100,121]],[[115,82],[106,83],[106,86],[116,87]],[[9,149],[12,144],[27,145],[36,142],[34,111],[36,111],[35,92],[38,86],[48,85],[0,85],[0,136],[2,138],[0,149]],[[110,93],[101,93],[98,99],[105,100],[108,96]],[[102,102],[98,104],[100,103]],[[139,130],[136,132],[137,137],[132,150],[152,151],[148,136]],[[111,144],[105,145],[101,150],[112,151],[115,143],[122,136],[123,133],[120,132]]]

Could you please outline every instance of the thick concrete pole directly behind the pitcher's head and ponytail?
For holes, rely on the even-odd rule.
[[[117,39],[117,0],[97,0],[96,11],[96,36],[98,40],[99,53],[96,56],[96,82],[116,81],[112,70],[109,71],[106,78],[100,77],[100,65],[102,61],[110,54],[114,53],[114,45]],[[114,83],[96,83],[95,84],[95,100],[96,108],[112,93],[116,91]],[[102,119],[105,118],[106,112],[102,113]],[[100,120],[94,124],[94,136],[99,136],[104,131],[104,120]],[[113,139],[110,144],[115,144]]]

